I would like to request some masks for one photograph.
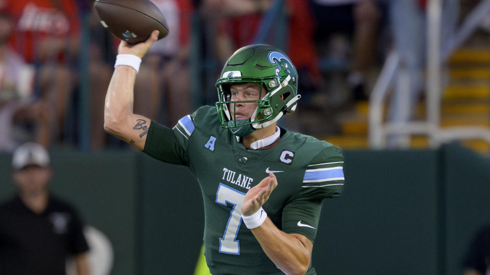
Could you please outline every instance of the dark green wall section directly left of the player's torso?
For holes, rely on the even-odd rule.
[[[192,274],[204,234],[201,189],[189,168],[141,154],[139,274]]]

